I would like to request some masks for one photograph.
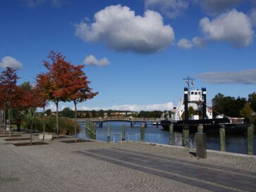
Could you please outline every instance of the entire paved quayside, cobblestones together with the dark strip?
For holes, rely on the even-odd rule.
[[[3,135],[3,134],[1,134]],[[0,137],[0,191],[255,191],[256,158],[145,143],[28,143],[29,134]],[[18,139],[20,138],[20,139]],[[33,136],[33,142],[38,141]]]

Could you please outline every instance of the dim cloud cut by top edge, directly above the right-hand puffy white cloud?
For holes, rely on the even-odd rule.
[[[241,0],[200,0],[202,8],[210,14],[217,14],[226,11],[228,8],[235,8]]]

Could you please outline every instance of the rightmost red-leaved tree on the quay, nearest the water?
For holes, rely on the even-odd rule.
[[[73,66],[68,86],[68,99],[73,101],[75,105],[75,141],[77,141],[76,118],[78,103],[87,101],[87,99],[91,99],[99,94],[99,92],[92,92],[92,89],[89,87],[90,82],[87,80],[87,76],[82,70],[83,68],[84,65]]]

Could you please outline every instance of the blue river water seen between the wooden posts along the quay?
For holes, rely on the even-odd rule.
[[[126,124],[126,141],[128,141],[128,134],[130,140],[135,141],[135,134],[137,140],[140,141],[140,124],[135,124],[134,128],[130,128],[130,122],[111,122],[110,128],[110,140],[114,141],[114,134],[122,134],[122,124]],[[80,138],[90,139],[90,136],[85,133],[85,124],[81,124]],[[96,140],[106,141],[107,122],[103,123],[103,127],[96,128]],[[173,141],[174,146],[181,146],[180,132],[174,132]],[[192,140],[195,147],[195,134],[190,134],[189,138]],[[219,151],[219,134],[206,134],[207,149]],[[116,141],[119,141],[120,137],[116,136]],[[152,143],[169,144],[169,131],[161,129],[161,126],[156,127],[148,124],[145,128],[145,141]],[[247,135],[246,134],[226,134],[226,151],[232,153],[247,154]],[[254,155],[256,155],[256,134],[254,135]]]

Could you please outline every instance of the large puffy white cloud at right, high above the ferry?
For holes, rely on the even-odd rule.
[[[202,18],[200,27],[209,40],[226,41],[236,47],[251,44],[254,34],[250,18],[236,9],[223,13],[212,21]]]

